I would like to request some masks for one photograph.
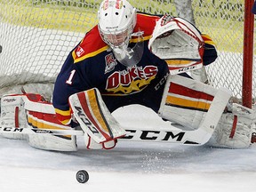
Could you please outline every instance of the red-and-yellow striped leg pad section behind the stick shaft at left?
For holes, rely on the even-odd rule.
[[[35,97],[33,97],[35,98]],[[38,97],[40,98],[40,97]],[[57,119],[51,103],[43,100],[25,99],[25,108],[28,116],[28,127],[41,129],[72,129],[63,125]],[[34,148],[55,151],[76,151],[76,136],[70,135],[34,135],[28,134],[28,144]]]

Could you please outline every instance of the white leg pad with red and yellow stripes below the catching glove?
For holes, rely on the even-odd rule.
[[[217,89],[183,76],[168,76],[158,115],[196,130],[212,104]]]

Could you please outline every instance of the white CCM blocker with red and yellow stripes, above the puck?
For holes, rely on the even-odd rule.
[[[76,121],[92,140],[102,143],[124,136],[125,130],[109,112],[98,89],[71,95],[69,105]]]

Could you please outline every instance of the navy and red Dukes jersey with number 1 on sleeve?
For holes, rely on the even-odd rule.
[[[137,13],[133,33],[142,31],[143,38],[132,37],[129,46],[133,47],[138,41],[143,43],[142,57],[132,67],[125,67],[116,60],[108,44],[101,39],[98,26],[86,33],[84,39],[69,52],[54,85],[52,104],[62,124],[70,123],[69,96],[92,88],[98,88],[110,112],[140,104],[157,113],[169,75],[166,62],[148,50],[148,40],[159,18]],[[203,60],[207,65],[217,58],[217,53],[211,38],[202,37],[205,39]]]

